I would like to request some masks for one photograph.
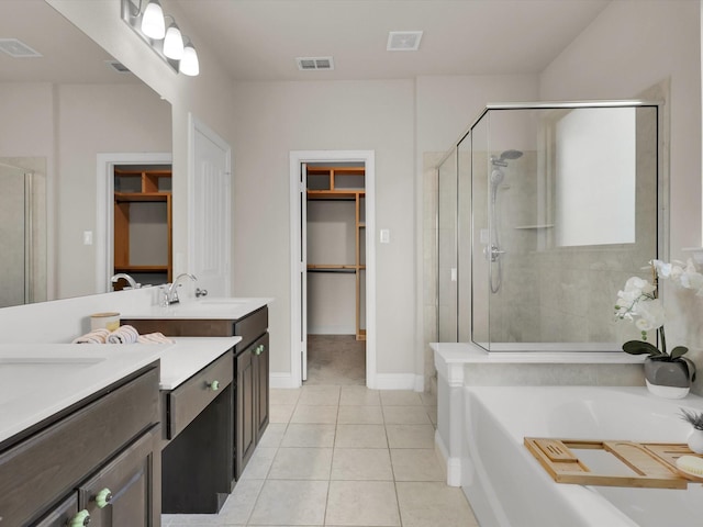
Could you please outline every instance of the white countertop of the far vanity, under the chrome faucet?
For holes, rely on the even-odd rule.
[[[270,304],[274,299],[245,299],[245,298],[209,298],[197,300],[183,300],[167,307],[149,305],[134,311],[125,311],[120,314],[122,319],[153,319],[153,318],[180,318],[180,319],[226,319],[236,321],[249,313]]]

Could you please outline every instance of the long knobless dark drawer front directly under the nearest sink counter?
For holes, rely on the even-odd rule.
[[[0,455],[2,525],[47,512],[94,467],[158,422],[158,368]]]

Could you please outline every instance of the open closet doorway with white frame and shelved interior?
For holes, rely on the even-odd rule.
[[[370,234],[375,225],[373,152],[292,152],[290,161],[293,343],[290,384],[300,386],[309,379],[312,359],[311,383],[344,381],[375,388],[376,260]],[[331,175],[330,169],[342,173]],[[353,181],[355,177],[357,182]],[[330,192],[335,188],[337,192]],[[331,211],[339,221],[326,225],[317,222]],[[342,221],[342,216],[346,220]],[[335,242],[330,244],[325,239]],[[335,295],[346,300],[331,309]],[[334,367],[327,368],[333,362]]]

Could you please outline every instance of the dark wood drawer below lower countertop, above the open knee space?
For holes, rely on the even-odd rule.
[[[232,354],[226,352],[176,390],[167,392],[167,439],[176,437],[232,383],[233,371]],[[217,390],[212,389],[213,381],[217,381]]]

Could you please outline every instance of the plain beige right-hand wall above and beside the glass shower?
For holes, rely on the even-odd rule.
[[[616,0],[540,77],[544,100],[632,99],[671,80],[670,249],[701,246],[699,0]]]

